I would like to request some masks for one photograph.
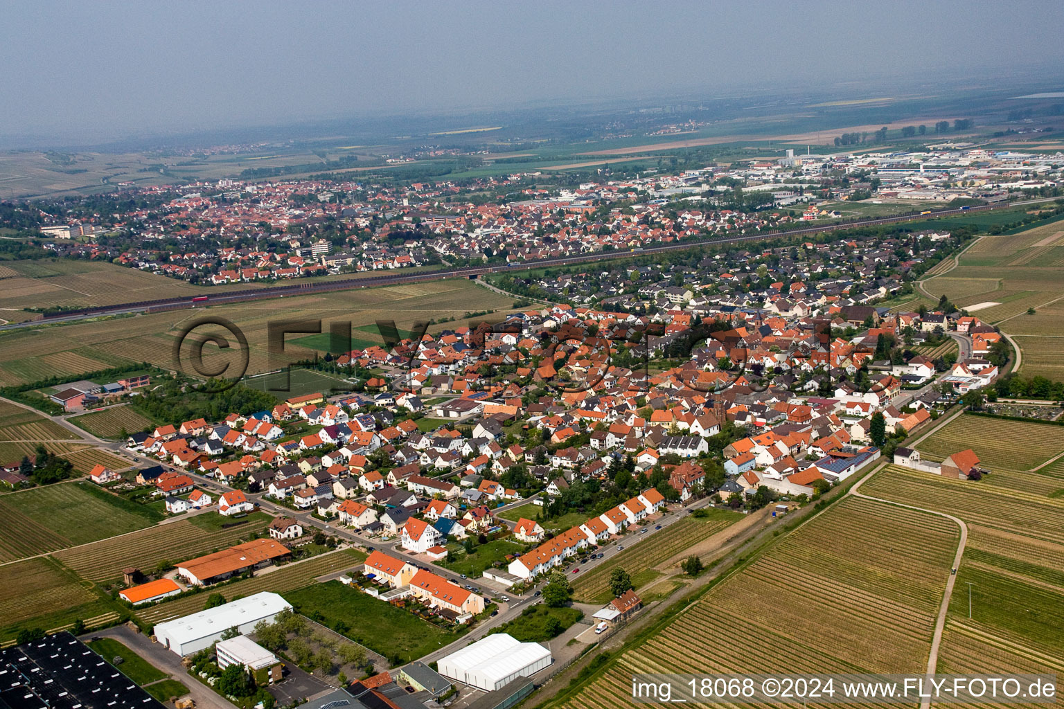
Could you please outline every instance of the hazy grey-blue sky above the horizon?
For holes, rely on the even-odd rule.
[[[1064,65],[1062,29],[1062,0],[14,0],[0,12],[0,134],[117,138],[752,83],[1000,74]]]

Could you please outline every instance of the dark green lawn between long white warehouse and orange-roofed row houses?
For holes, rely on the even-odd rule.
[[[388,658],[408,662],[452,642],[460,634],[444,630],[413,613],[339,581],[303,587],[283,594],[304,615],[320,614],[325,625],[343,620],[345,634]]]

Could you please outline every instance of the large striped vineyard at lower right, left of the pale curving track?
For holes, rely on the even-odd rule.
[[[959,539],[946,519],[843,500],[611,660],[564,706],[624,705],[643,672],[922,672]]]

